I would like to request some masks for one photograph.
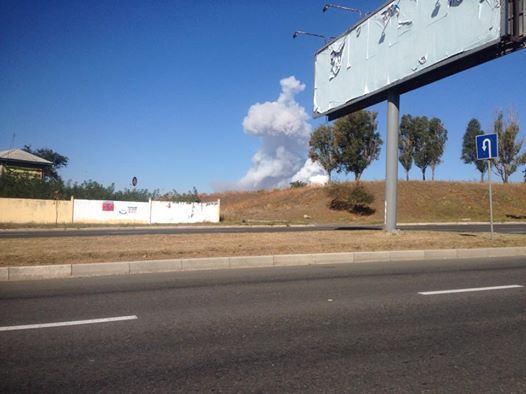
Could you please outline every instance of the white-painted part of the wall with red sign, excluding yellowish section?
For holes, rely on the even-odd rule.
[[[74,200],[74,223],[219,223],[220,202]]]

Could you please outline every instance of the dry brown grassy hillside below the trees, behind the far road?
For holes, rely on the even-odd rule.
[[[225,224],[377,224],[384,221],[384,182],[361,182],[374,196],[367,214],[329,208],[329,188],[306,186],[207,196],[221,199]],[[344,184],[352,187],[353,183]],[[398,183],[398,222],[489,221],[488,185],[473,182]],[[494,184],[495,221],[526,220],[526,184]]]

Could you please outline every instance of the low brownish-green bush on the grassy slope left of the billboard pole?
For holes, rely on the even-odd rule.
[[[375,210],[369,205],[374,202],[374,196],[362,184],[352,186],[333,183],[327,189],[331,197],[329,208],[336,211],[348,211],[356,215],[372,215]]]

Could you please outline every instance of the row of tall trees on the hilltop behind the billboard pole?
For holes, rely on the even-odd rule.
[[[333,124],[318,127],[311,135],[309,157],[327,171],[329,181],[336,172],[353,173],[360,180],[364,170],[380,155],[382,139],[376,131],[377,113],[366,110],[354,112],[336,120]],[[521,154],[522,140],[517,141],[518,122],[510,117],[505,121],[502,112],[497,113],[493,132],[499,139],[499,157],[493,160],[496,173],[507,183],[519,166],[526,164],[526,153]],[[484,134],[480,122],[472,119],[463,138],[461,159],[473,163],[481,173],[481,181],[487,172],[485,161],[477,160],[475,137]],[[436,167],[442,163],[448,131],[439,118],[403,115],[400,122],[398,157],[409,180],[413,163],[420,168],[422,179],[431,169],[435,179]],[[524,172],[526,182],[526,171]]]

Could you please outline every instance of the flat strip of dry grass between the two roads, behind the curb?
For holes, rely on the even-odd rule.
[[[526,235],[338,230],[0,239],[0,266],[509,246],[526,246]]]

